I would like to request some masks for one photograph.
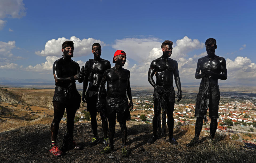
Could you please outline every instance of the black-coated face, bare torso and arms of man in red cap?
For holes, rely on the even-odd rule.
[[[125,65],[126,56],[118,55],[115,57],[115,66],[104,72],[101,84],[98,89],[98,102],[97,106],[102,105],[99,102],[103,86],[107,82],[107,96],[108,97],[123,97],[128,95],[130,100],[129,108],[133,109],[133,101],[131,98],[131,87],[130,87],[130,71],[123,68]]]

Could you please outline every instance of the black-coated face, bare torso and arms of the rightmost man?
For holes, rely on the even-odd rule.
[[[208,55],[198,59],[197,69],[195,71],[195,78],[202,78],[200,86],[203,86],[203,77],[209,76],[210,86],[218,86],[218,79],[227,79],[226,60],[223,57],[215,55],[215,49],[217,49],[217,45],[206,45],[205,47]],[[199,74],[200,71],[201,74]]]

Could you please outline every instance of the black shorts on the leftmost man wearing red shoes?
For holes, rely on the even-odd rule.
[[[53,95],[53,102],[55,101],[60,102],[69,108],[79,109],[81,95],[75,88],[75,84],[71,85],[69,88],[56,86]]]

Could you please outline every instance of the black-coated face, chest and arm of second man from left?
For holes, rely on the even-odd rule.
[[[89,83],[89,87],[91,86],[95,86],[95,87],[99,87],[101,80],[102,80],[102,76],[103,73],[105,72],[105,70],[110,69],[111,68],[111,64],[108,60],[102,59],[101,58],[101,47],[100,46],[94,46],[92,49],[92,53],[94,55],[94,60],[93,60],[93,82]],[[85,69],[88,71],[90,68],[90,63],[89,61],[87,61],[85,63]],[[86,89],[88,86],[88,76],[89,73],[86,73],[85,79],[83,81],[83,93],[82,93],[82,100],[83,102],[86,102]]]

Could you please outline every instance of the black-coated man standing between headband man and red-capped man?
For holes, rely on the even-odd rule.
[[[97,115],[97,108],[96,108],[96,102],[97,102],[97,95],[98,95],[98,88],[99,84],[101,82],[103,73],[105,70],[110,69],[111,65],[108,60],[101,58],[101,45],[99,43],[94,43],[92,45],[91,52],[94,55],[94,59],[90,59],[85,63],[85,69],[86,69],[86,76],[85,80],[83,81],[83,93],[82,93],[82,100],[83,102],[87,103],[87,111],[90,112],[91,115],[91,127],[93,130],[94,137],[91,139],[91,142],[89,143],[89,146],[93,146],[97,143],[99,143],[99,137],[98,137],[98,124],[96,120]],[[87,85],[89,83],[89,88],[86,92]],[[86,95],[85,95],[86,92]],[[107,96],[107,91],[105,87],[103,88],[100,100],[102,103],[105,103]],[[107,146],[108,144],[108,137],[107,137],[107,117],[106,117],[106,108],[103,107],[101,110],[98,110],[100,116],[101,116],[101,125],[104,133],[104,140],[103,143]]]

